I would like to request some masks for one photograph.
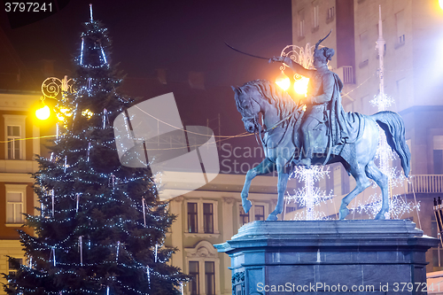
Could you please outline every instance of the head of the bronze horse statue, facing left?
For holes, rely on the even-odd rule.
[[[249,133],[258,132],[260,105],[253,99],[253,91],[249,87],[235,88],[231,86],[235,92],[237,111],[241,113],[245,129]]]

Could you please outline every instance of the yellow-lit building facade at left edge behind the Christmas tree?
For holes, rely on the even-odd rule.
[[[6,255],[26,263],[17,229],[25,221],[23,213],[35,214],[37,206],[30,173],[38,168],[40,128],[29,111],[39,99],[35,92],[0,93],[0,273],[15,271]]]

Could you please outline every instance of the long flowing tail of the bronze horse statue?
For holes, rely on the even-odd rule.
[[[370,117],[376,120],[378,126],[385,130],[386,141],[392,150],[399,155],[401,167],[406,177],[408,177],[411,154],[405,140],[405,124],[403,119],[401,119],[398,113],[391,111],[374,113]]]

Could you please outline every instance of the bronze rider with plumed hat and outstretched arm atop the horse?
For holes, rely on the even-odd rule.
[[[328,68],[328,61],[334,55],[334,50],[327,47],[318,48],[328,36],[315,44],[313,63],[315,70],[308,70],[289,57],[271,58],[271,61],[284,62],[296,74],[309,78],[307,111],[301,125],[303,152],[299,161],[299,165],[306,167],[311,166],[313,153],[318,152],[319,148],[326,150],[329,155],[331,147],[353,143],[358,137],[358,130],[351,124],[354,121],[353,113],[345,113],[341,105],[340,91],[343,89],[343,82]],[[323,123],[327,126],[327,146],[322,146],[323,141],[313,136],[315,128]]]

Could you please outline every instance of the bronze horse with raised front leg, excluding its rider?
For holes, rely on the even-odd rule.
[[[291,168],[297,165],[301,154],[300,124],[304,105],[296,103],[273,82],[255,80],[232,89],[246,131],[258,133],[266,157],[246,174],[241,192],[242,206],[245,213],[251,209],[251,201],[247,197],[253,178],[276,170],[278,200],[275,210],[268,215],[268,221],[276,221],[277,214],[282,213],[284,208],[284,192]],[[347,173],[354,176],[356,187],[341,201],[340,220],[345,219],[349,213],[347,205],[370,186],[369,178],[382,190],[382,207],[376,219],[385,219],[385,213],[389,210],[388,177],[374,163],[378,146],[378,126],[385,130],[387,143],[399,155],[401,167],[408,177],[410,152],[405,141],[404,123],[398,113],[390,111],[360,116],[361,136],[352,144],[338,144],[327,152],[315,152],[312,164],[328,165],[340,162]]]

